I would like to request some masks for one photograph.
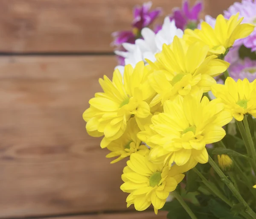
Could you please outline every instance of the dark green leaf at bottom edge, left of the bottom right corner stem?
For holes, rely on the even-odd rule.
[[[208,202],[208,207],[214,216],[221,219],[242,219],[240,216],[234,216],[226,205],[218,203],[215,199]]]

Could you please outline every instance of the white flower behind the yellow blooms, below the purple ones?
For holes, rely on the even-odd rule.
[[[125,58],[125,65],[131,64],[134,67],[140,61],[146,63],[145,59],[156,61],[154,55],[162,51],[163,44],[171,44],[175,36],[182,37],[183,31],[177,29],[174,20],[170,21],[170,18],[166,17],[162,29],[157,34],[145,27],[142,29],[141,35],[143,39],[135,40],[135,44],[122,44],[127,52],[115,51],[116,55]],[[116,68],[123,74],[124,66],[116,66]]]

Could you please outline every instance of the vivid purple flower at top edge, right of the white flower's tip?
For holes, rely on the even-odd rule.
[[[199,21],[199,13],[202,11],[202,3],[197,2],[189,9],[188,0],[184,0],[182,9],[176,8],[170,16],[171,20],[175,20],[175,24],[179,29],[195,29]]]

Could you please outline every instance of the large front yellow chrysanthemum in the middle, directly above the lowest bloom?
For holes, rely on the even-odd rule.
[[[154,163],[175,162],[185,165],[190,158],[199,163],[208,161],[206,144],[220,141],[226,132],[222,128],[232,120],[229,112],[224,111],[224,104],[216,100],[209,101],[202,93],[197,96],[187,95],[175,101],[164,103],[164,112],[152,117],[151,129],[139,133],[145,135],[146,143],[153,147],[149,157]]]

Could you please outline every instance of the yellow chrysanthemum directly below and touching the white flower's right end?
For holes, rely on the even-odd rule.
[[[216,83],[212,77],[226,71],[229,66],[215,55],[207,57],[208,51],[209,46],[199,42],[188,46],[177,36],[171,45],[164,44],[163,51],[156,55],[157,61],[148,61],[153,71],[148,77],[150,85],[157,92],[150,107],[199,89],[208,92]]]

